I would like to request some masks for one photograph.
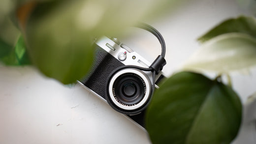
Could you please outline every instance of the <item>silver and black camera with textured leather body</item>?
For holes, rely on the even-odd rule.
[[[164,58],[157,58],[154,66],[117,38],[107,36],[97,39],[94,46],[94,64],[79,83],[114,110],[145,127],[145,109],[164,78],[160,71],[166,63]]]

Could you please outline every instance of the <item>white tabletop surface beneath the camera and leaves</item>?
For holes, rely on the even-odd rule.
[[[150,25],[166,42],[163,72],[170,76],[199,47],[196,38],[226,18],[248,14],[235,0],[190,0]],[[160,45],[137,30],[122,39],[153,60]],[[232,84],[244,103],[256,91],[256,69],[232,73]],[[246,84],[246,85],[245,85]],[[64,86],[36,69],[0,66],[0,144],[149,144],[147,132],[112,110],[80,85]]]

